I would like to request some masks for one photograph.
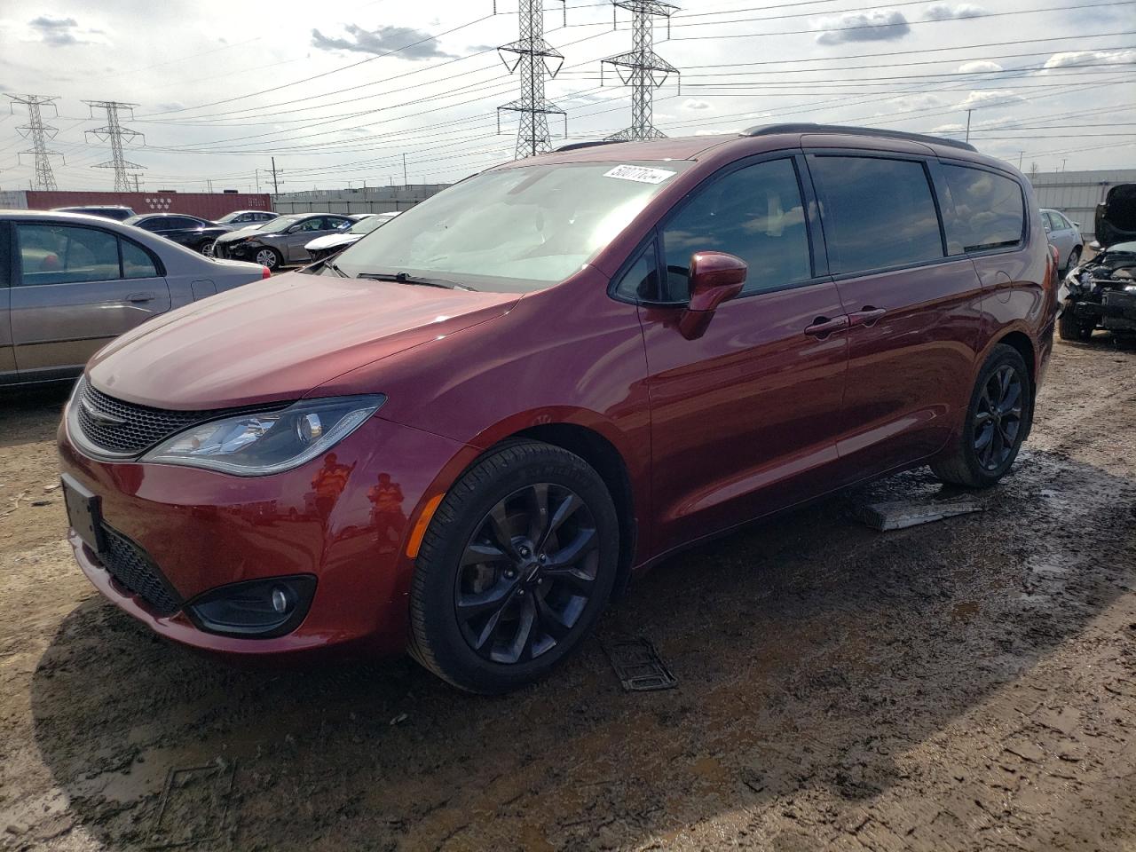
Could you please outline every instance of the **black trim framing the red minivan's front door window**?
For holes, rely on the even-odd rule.
[[[752,299],[753,296],[767,295],[769,293],[779,293],[785,290],[796,290],[799,287],[810,287],[817,284],[825,284],[832,281],[832,277],[827,274],[828,272],[828,260],[827,260],[827,249],[824,243],[824,237],[821,236],[819,242],[815,235],[813,229],[819,227],[819,218],[817,218],[816,210],[816,195],[812,189],[812,181],[808,172],[804,168],[804,157],[800,148],[782,148],[776,151],[763,151],[751,157],[744,157],[733,162],[727,162],[725,166],[716,169],[715,172],[707,175],[698,184],[692,186],[686,194],[678,199],[670,208],[662,215],[662,217],[655,222],[654,226],[648,232],[648,234],[636,244],[635,249],[628,252],[627,258],[620,264],[616,274],[611,276],[611,281],[608,284],[608,296],[618,302],[625,302],[627,304],[642,304],[650,308],[682,308],[690,302],[690,299],[682,299],[678,301],[669,301],[663,299],[658,299],[654,301],[645,299],[628,299],[620,295],[617,292],[617,286],[623,279],[624,275],[630,269],[635,262],[638,261],[641,254],[646,249],[651,240],[655,243],[655,278],[659,287],[658,295],[662,295],[662,289],[666,282],[666,249],[662,242],[662,232],[666,229],[667,225],[670,224],[684,209],[690,204],[699,193],[709,187],[711,184],[728,177],[735,172],[740,172],[749,166],[757,166],[762,162],[769,162],[771,160],[790,160],[793,170],[796,174],[796,185],[797,191],[801,193],[801,204],[804,209],[804,233],[809,242],[809,262],[812,272],[812,277],[805,278],[804,281],[794,281],[790,284],[782,284],[777,287],[768,287],[766,290],[755,290],[751,293],[740,293],[736,298],[732,299],[730,302],[738,302],[745,299]],[[818,250],[819,247],[819,250]]]

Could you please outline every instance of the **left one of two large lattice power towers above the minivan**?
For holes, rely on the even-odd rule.
[[[567,16],[567,11],[565,15]],[[544,99],[545,76],[550,80],[556,77],[565,64],[565,58],[560,51],[544,41],[543,0],[520,0],[517,17],[520,20],[520,37],[509,44],[502,44],[498,48],[498,53],[501,55],[501,61],[510,74],[520,68],[520,98],[498,107],[498,133],[501,132],[502,109],[520,114],[515,153],[515,159],[519,160],[551,151],[549,116],[565,116],[565,135],[568,135],[568,116],[557,105],[549,103]],[[516,53],[516,60],[510,64],[506,53]]]

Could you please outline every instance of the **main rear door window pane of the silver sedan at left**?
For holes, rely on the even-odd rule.
[[[18,225],[20,283],[68,284],[119,278],[114,234],[64,225]]]

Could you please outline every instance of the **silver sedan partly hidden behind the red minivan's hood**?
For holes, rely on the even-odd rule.
[[[0,210],[0,385],[73,378],[150,317],[267,276],[111,219]]]

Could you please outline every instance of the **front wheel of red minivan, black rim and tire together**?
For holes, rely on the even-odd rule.
[[[541,494],[543,516],[533,511]],[[411,583],[408,650],[468,692],[529,684],[591,633],[618,553],[615,503],[586,461],[536,441],[501,444],[431,519]]]

